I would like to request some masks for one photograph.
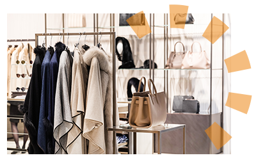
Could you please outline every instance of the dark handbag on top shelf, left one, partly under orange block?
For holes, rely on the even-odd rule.
[[[136,13],[120,13],[119,26],[144,26],[145,25],[145,16],[144,14],[140,14],[140,16],[134,17],[132,22],[128,24],[126,21]]]

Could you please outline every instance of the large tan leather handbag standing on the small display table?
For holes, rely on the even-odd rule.
[[[143,92],[140,91],[141,80],[145,84]],[[153,84],[156,93],[152,93],[150,84]],[[157,93],[156,86],[152,79],[148,79],[149,92],[145,92],[146,78],[141,77],[138,92],[132,96],[131,109],[129,112],[129,124],[131,127],[154,127],[164,124],[166,121],[166,102],[164,92]]]

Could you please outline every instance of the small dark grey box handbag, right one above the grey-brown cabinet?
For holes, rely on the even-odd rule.
[[[200,103],[195,99],[184,99],[182,103],[182,112],[199,113]]]

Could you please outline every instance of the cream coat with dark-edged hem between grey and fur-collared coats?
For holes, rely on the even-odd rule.
[[[81,45],[74,49],[70,108],[74,125],[68,132],[67,153],[87,154],[86,139],[83,137],[83,122],[86,107],[88,67],[83,61],[86,51]]]

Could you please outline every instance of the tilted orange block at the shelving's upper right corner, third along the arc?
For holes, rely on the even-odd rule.
[[[227,31],[227,29],[228,26],[214,16],[208,27],[205,29],[203,36],[214,44],[216,40],[218,40],[225,33],[225,31]]]

